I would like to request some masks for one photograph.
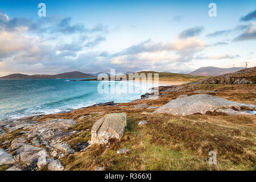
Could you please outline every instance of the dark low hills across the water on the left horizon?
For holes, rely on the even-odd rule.
[[[44,79],[44,78],[93,78],[94,75],[82,72],[66,72],[57,75],[23,75],[23,74],[11,74],[0,77],[0,79]]]

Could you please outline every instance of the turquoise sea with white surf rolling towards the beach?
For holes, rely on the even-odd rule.
[[[99,81],[69,80],[0,80],[0,120],[60,113],[99,102],[129,102],[141,98],[152,87],[128,83],[137,93],[99,93]],[[110,87],[110,83],[107,85]]]

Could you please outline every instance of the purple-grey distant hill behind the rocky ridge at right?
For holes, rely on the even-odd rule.
[[[195,71],[189,73],[189,75],[201,75],[201,76],[218,76],[223,75],[225,73],[233,73],[236,71],[240,71],[241,67],[234,67],[234,68],[217,68],[217,67],[201,67],[196,69]]]

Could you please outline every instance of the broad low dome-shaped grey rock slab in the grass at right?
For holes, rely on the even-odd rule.
[[[211,96],[209,94],[195,94],[184,98],[176,98],[166,105],[156,109],[153,114],[167,113],[173,115],[191,115],[195,113],[205,114],[207,111],[217,109],[236,109],[241,110],[243,105],[225,100],[224,98]],[[244,106],[245,107],[245,106]],[[249,106],[248,106],[249,107]],[[242,113],[241,113],[242,114]]]

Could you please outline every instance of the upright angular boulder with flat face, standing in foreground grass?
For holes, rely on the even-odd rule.
[[[108,143],[109,138],[120,139],[126,128],[126,113],[107,114],[94,123],[90,144]]]

